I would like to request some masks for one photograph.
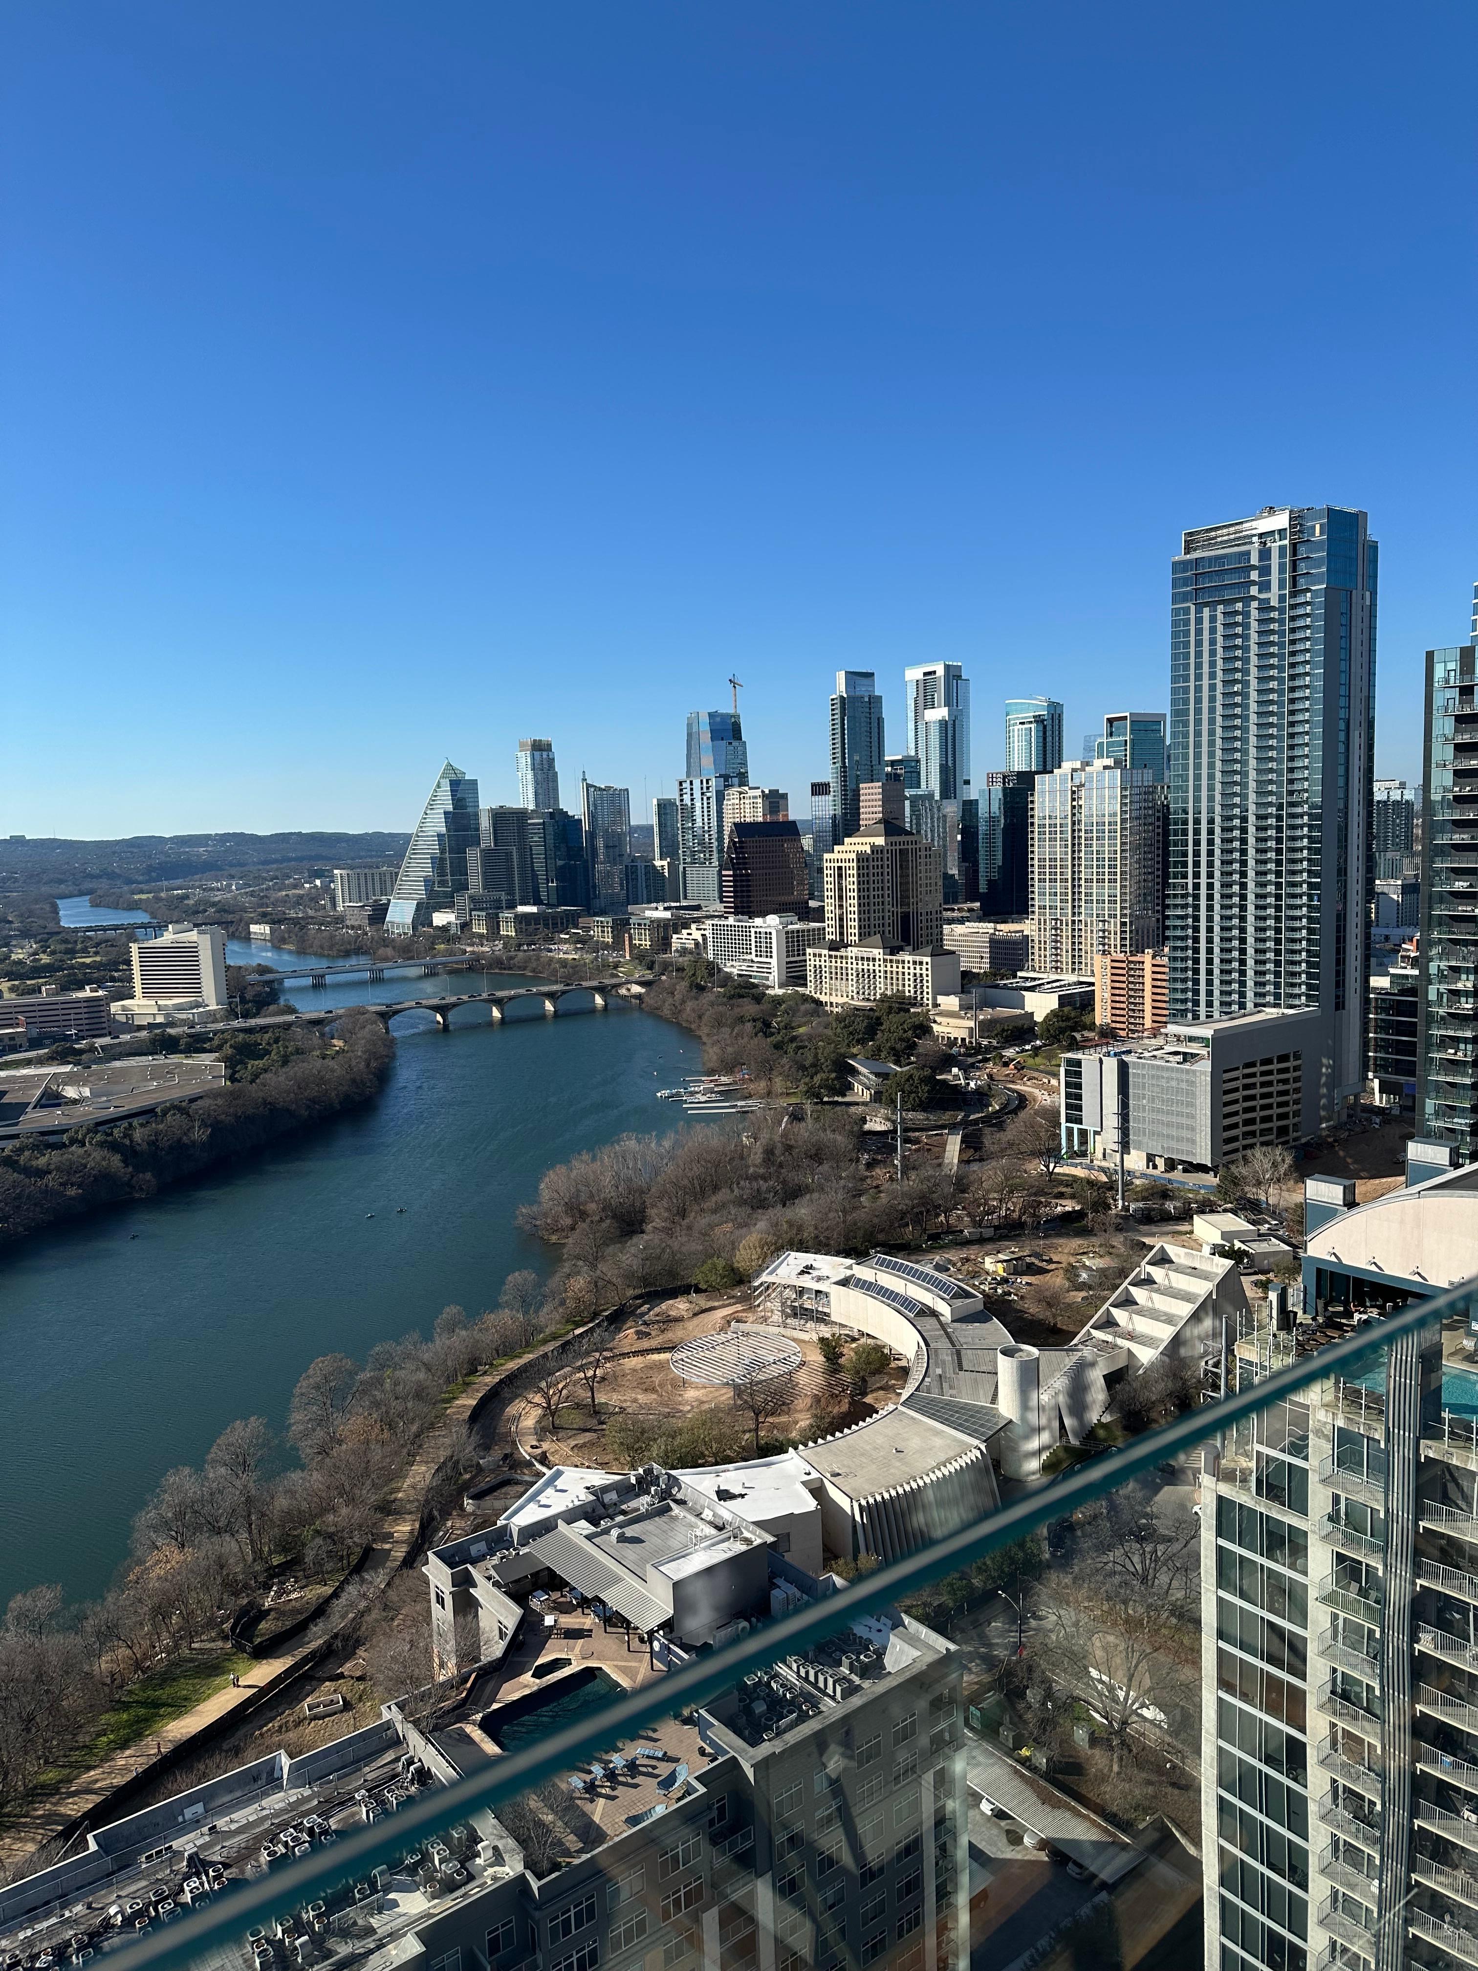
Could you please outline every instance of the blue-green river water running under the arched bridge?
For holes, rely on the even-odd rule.
[[[260,944],[227,956],[307,964]],[[530,984],[400,974],[286,991],[309,1011],[487,989],[475,980]],[[463,1007],[449,1033],[416,1011],[394,1031],[363,1110],[0,1256],[0,1606],[39,1581],[99,1595],[164,1472],[197,1464],[233,1417],[280,1431],[313,1356],[363,1360],[430,1332],[451,1301],[493,1307],[514,1267],[548,1269],[516,1206],[552,1163],[670,1129],[656,1090],[702,1062],[698,1041],[625,1001],[501,1027]]]

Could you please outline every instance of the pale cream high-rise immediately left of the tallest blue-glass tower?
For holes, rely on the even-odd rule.
[[[1031,956],[1039,972],[1090,974],[1100,952],[1165,942],[1163,800],[1147,767],[1068,761],[1037,775]]]

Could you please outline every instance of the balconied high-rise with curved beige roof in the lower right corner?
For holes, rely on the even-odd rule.
[[[1413,1145],[1415,1147],[1415,1145]],[[1435,1175],[1431,1175],[1435,1171]],[[1478,1171],[1354,1204],[1309,1179],[1303,1315],[1247,1326],[1247,1388],[1472,1273]],[[1202,1453],[1206,1963],[1478,1959],[1474,1376],[1466,1319],[1269,1403]]]

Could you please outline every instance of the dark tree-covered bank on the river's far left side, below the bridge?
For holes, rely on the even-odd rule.
[[[394,1041],[374,1017],[347,1015],[339,1039],[303,1043],[282,1066],[136,1123],[83,1129],[59,1143],[0,1151],[0,1246],[73,1218],[150,1198],[211,1165],[246,1157],[369,1102],[384,1084]]]

